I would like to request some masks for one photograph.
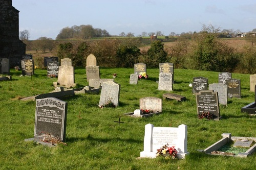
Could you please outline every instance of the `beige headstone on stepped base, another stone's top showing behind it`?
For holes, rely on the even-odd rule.
[[[57,83],[60,86],[74,87],[75,84],[75,76],[74,76],[74,67],[69,65],[61,65],[59,66],[58,72],[58,81]]]

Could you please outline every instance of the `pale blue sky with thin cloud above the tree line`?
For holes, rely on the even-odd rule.
[[[255,0],[12,0],[19,10],[19,31],[30,40],[55,39],[60,30],[92,25],[111,35],[131,32],[198,32],[202,25],[252,31],[256,28]]]

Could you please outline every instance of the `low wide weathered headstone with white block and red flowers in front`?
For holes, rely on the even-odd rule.
[[[162,99],[155,97],[146,97],[140,99],[140,109],[162,112]]]

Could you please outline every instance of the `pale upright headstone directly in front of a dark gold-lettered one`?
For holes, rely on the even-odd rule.
[[[173,91],[173,74],[159,72],[158,90]]]

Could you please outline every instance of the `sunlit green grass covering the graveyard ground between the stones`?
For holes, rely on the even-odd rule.
[[[61,100],[68,102],[67,145],[48,148],[24,139],[33,137],[35,101],[24,98],[54,90],[57,79],[47,78],[46,70],[36,69],[31,77],[19,77],[11,69],[12,81],[0,82],[0,169],[254,169],[256,154],[248,158],[212,156],[198,152],[221,139],[222,133],[232,136],[256,137],[256,117],[241,113],[241,108],[254,101],[249,91],[249,75],[232,74],[241,79],[241,99],[228,99],[220,106],[220,121],[197,118],[195,95],[188,87],[193,77],[218,82],[218,72],[175,69],[174,91],[186,96],[185,102],[163,100],[162,114],[148,118],[123,116],[139,108],[145,96],[162,98],[166,91],[157,90],[159,70],[147,69],[149,78],[130,85],[133,68],[100,68],[101,78],[112,78],[121,85],[120,105],[99,109],[100,94],[78,94]],[[86,69],[75,68],[75,83],[87,86]],[[79,113],[81,119],[79,119]],[[114,121],[121,122],[118,126]],[[144,126],[178,127],[187,125],[188,152],[184,160],[136,159],[143,151]]]

